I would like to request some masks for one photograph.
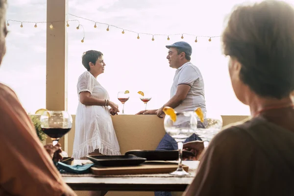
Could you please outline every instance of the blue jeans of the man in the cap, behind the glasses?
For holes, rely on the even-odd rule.
[[[201,140],[195,133],[191,135],[189,138],[186,139],[184,143],[192,142],[196,140]],[[159,142],[159,145],[157,146],[156,150],[177,150],[177,143],[176,141],[169,135],[165,134],[162,138],[162,140]],[[155,196],[172,196],[171,192],[165,192],[165,191],[155,191]]]

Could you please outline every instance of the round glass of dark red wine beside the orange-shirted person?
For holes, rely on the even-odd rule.
[[[67,111],[45,111],[41,118],[42,131],[48,135],[55,146],[59,139],[67,134],[73,124],[72,116]]]

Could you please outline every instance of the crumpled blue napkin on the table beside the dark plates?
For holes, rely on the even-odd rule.
[[[57,163],[57,168],[59,172],[71,172],[71,173],[90,173],[90,168],[94,165],[93,164],[85,164],[85,165],[67,165],[62,162]]]

